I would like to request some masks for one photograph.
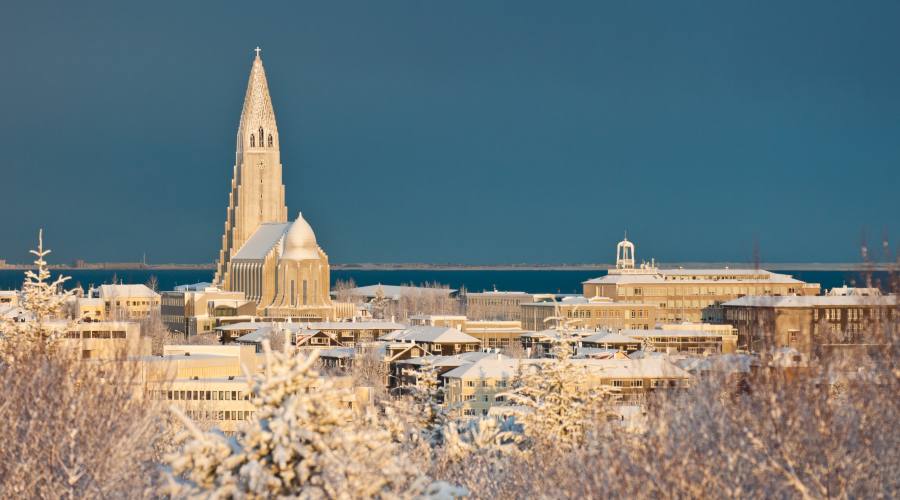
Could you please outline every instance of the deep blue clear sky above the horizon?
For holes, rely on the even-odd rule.
[[[210,262],[252,49],[332,262],[855,261],[900,2],[8,3],[0,258]]]

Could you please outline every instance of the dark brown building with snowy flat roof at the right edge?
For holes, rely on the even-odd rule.
[[[791,347],[815,356],[880,349],[900,317],[896,295],[742,297],[722,307],[739,348]]]

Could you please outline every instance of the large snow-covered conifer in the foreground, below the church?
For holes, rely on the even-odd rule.
[[[316,353],[265,348],[264,373],[248,374],[255,417],[233,437],[201,432],[182,416],[184,446],[169,457],[174,496],[392,498],[447,491],[430,483],[374,412],[348,406],[351,390],[319,376]]]

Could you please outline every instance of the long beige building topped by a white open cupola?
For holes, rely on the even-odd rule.
[[[661,323],[700,322],[706,308],[747,295],[817,295],[818,284],[760,269],[660,269],[634,265],[634,243],[621,241],[616,268],[583,283],[585,297],[609,297],[659,309]]]

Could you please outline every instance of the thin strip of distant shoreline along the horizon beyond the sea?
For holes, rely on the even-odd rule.
[[[748,269],[753,265],[745,262],[672,262],[659,263],[662,268],[685,269]],[[417,264],[417,263],[359,263],[332,264],[335,271],[606,271],[613,267],[610,264]],[[884,263],[829,263],[829,262],[765,262],[759,264],[760,269],[790,271],[890,271],[896,270],[896,264]],[[24,271],[33,269],[33,265],[6,264],[0,271]],[[50,269],[59,271],[212,271],[215,264],[140,264],[140,263],[91,263],[81,266],[51,265]]]

